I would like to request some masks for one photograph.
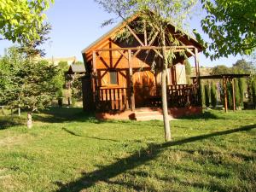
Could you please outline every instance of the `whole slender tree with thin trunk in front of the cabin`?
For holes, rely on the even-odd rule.
[[[122,20],[127,20],[131,15],[139,14],[140,19],[145,23],[147,32],[150,32],[148,38],[158,36],[158,45],[162,55],[161,68],[161,96],[162,109],[165,127],[166,141],[171,140],[170,122],[168,119],[167,97],[166,97],[166,73],[167,68],[172,66],[172,60],[175,58],[173,50],[167,50],[166,45],[172,44],[178,46],[181,42],[177,36],[168,32],[168,26],[174,25],[175,31],[180,30],[183,33],[184,20],[187,18],[191,9],[195,5],[194,0],[190,1],[172,1],[172,0],[96,0],[97,3],[108,12],[118,15]],[[105,24],[113,23],[114,19],[110,19]],[[150,42],[150,39],[148,39]],[[184,54],[184,53],[183,53]]]

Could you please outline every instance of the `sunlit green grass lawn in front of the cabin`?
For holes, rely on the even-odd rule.
[[[255,191],[256,111],[98,121],[79,108],[0,117],[0,191]]]

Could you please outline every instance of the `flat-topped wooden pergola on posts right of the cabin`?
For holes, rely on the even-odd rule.
[[[223,79],[224,86],[224,108],[225,112],[228,112],[228,93],[227,93],[227,82],[230,81],[232,84],[232,100],[233,100],[233,111],[236,110],[236,94],[235,94],[235,80],[236,78],[247,78],[250,74],[215,74],[215,75],[204,75],[200,76],[199,79]],[[196,79],[198,77],[191,77]]]

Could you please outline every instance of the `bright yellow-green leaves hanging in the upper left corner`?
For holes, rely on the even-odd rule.
[[[0,34],[19,43],[38,39],[38,29],[46,18],[44,11],[54,0],[0,0]]]

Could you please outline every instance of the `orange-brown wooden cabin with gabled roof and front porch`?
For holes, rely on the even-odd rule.
[[[157,46],[158,38],[156,35],[148,42],[147,32],[136,32],[132,26],[137,25],[137,20],[135,17],[120,23],[82,50],[86,69],[83,78],[84,110],[96,111],[101,119],[138,119],[137,112],[162,119],[159,113],[160,68],[163,62]],[[131,37],[119,38],[125,30]],[[200,82],[195,79],[193,84],[188,84],[184,60],[185,55],[195,57],[195,71],[199,77],[198,53],[202,46],[194,38],[175,32],[174,26],[170,25],[169,32],[175,33],[182,43],[182,46],[166,46],[176,54],[167,71],[170,115],[178,117],[201,113]]]

